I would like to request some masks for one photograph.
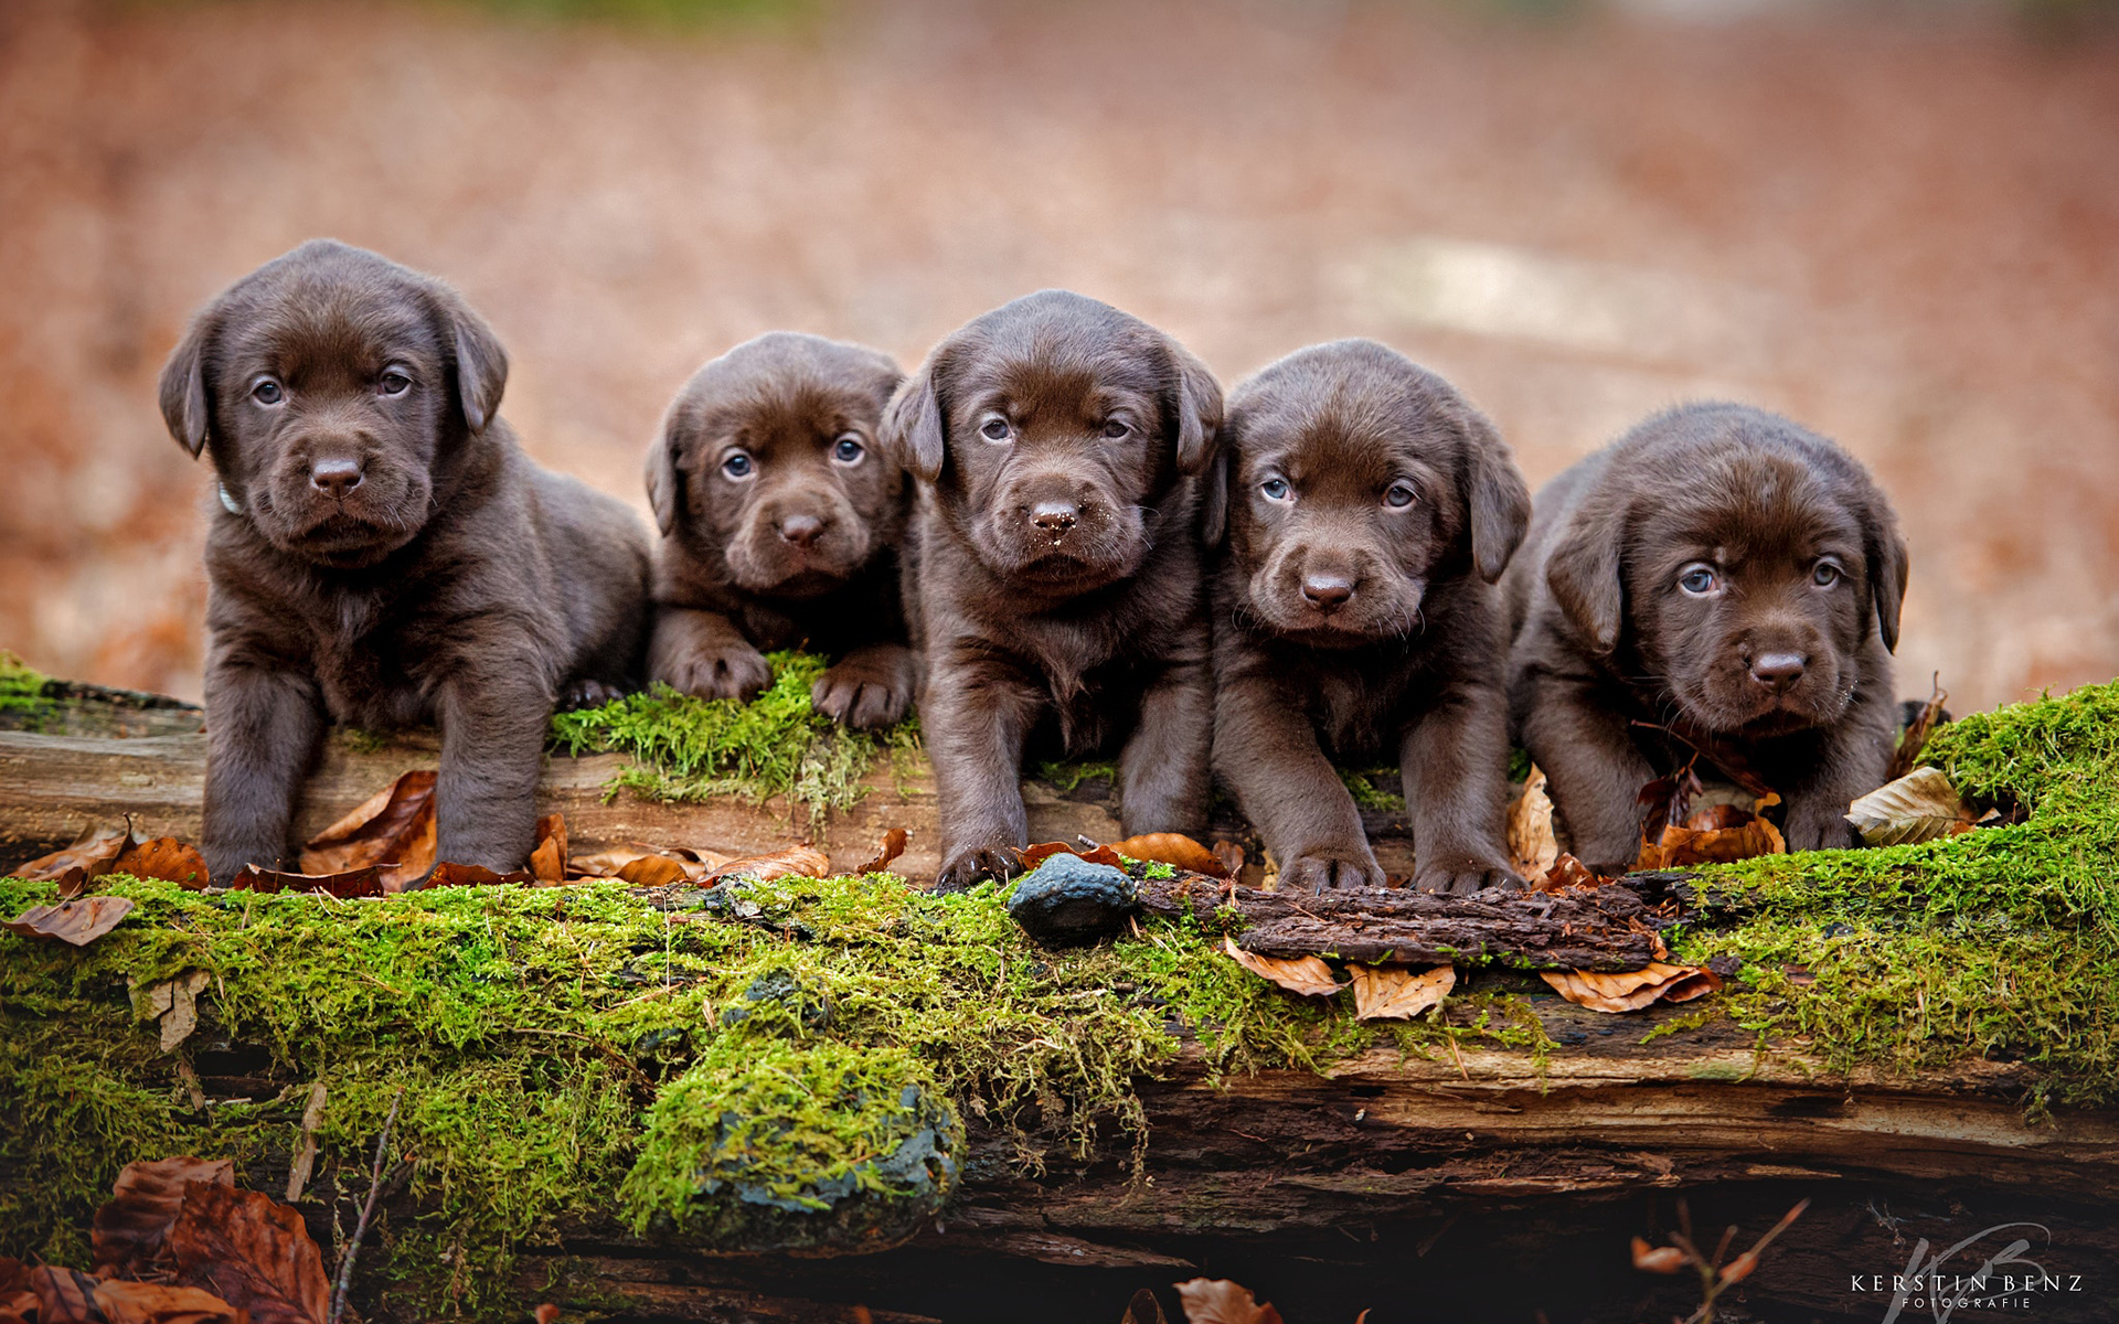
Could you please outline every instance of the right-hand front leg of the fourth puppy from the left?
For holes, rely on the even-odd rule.
[[[1422,892],[1521,888],[1502,849],[1509,701],[1479,680],[1456,680],[1405,731],[1399,769],[1413,824],[1413,885]]]

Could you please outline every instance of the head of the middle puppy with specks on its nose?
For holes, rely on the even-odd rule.
[[[996,574],[1087,591],[1140,568],[1157,502],[1212,460],[1221,386],[1168,335],[1045,290],[951,333],[884,434]]]

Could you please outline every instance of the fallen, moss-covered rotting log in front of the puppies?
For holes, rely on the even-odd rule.
[[[1735,964],[1731,989],[1627,1017],[1466,962],[1435,1017],[1363,1025],[1343,1000],[1290,998],[1216,955],[1218,907],[1199,896],[1151,900],[1115,945],[1049,953],[992,890],[892,879],[369,902],[119,881],[140,911],[89,949],[0,934],[0,1095],[21,1119],[0,1129],[0,1254],[64,1252],[144,1148],[227,1152],[278,1193],[322,1080],[324,1159],[301,1207],[326,1258],[392,1093],[409,1099],[411,1176],[358,1275],[373,1320],[555,1301],[604,1320],[852,1320],[865,1303],[875,1320],[1057,1322],[1115,1318],[1132,1288],[1195,1271],[1320,1320],[1661,1318],[1691,1307],[1653,1296],[1672,1284],[1644,1286],[1625,1237],[1668,1227],[1674,1195],[1752,1233],[1816,1199],[1746,1286],[1761,1318],[1882,1318],[1888,1296],[1850,1296],[1848,1275],[1905,1273],[1918,1239],[2009,1220],[2041,1222],[2041,1265],[2094,1288],[2041,1296],[2036,1318],[2111,1318],[2119,958],[2096,797],[2113,794],[2119,686],[2083,695],[1966,722],[1947,752],[1958,786],[2013,794],[2030,822],[1723,871],[1714,885],[1744,907],[1670,936],[1678,960]],[[0,830],[21,854],[70,839],[91,807],[193,833],[199,714],[74,708],[0,735]],[[104,720],[140,731],[91,729]],[[420,750],[335,739],[309,820]],[[589,765],[547,773],[547,807],[578,813],[583,841],[788,837],[776,807],[606,805],[608,765]],[[835,862],[862,862],[886,826],[926,826],[918,803],[882,773],[871,818],[833,828]],[[1034,813],[1040,835],[1115,835],[1091,784],[1047,788]],[[0,902],[47,890],[0,881]],[[1613,905],[1676,894],[1651,877]],[[199,1030],[161,1051],[129,989],[195,968],[212,972]],[[928,1193],[882,1182],[886,1216],[767,1254],[754,1229],[771,1220],[731,1231],[710,1161],[742,1121],[731,1099],[765,1097],[767,1078],[818,1097],[797,1129],[858,1140],[879,1131],[841,1112],[913,1116],[943,1176]],[[920,1121],[922,1097],[947,1097],[960,1131]],[[831,1167],[831,1188],[869,1199],[845,1180],[860,1163]],[[756,1186],[782,1203],[826,1188],[780,1178]]]

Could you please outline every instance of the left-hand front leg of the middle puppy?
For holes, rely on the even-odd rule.
[[[1043,691],[994,659],[930,667],[920,693],[920,729],[934,763],[941,801],[939,892],[960,892],[981,877],[1007,879],[1030,843],[1023,813],[1023,741]]]

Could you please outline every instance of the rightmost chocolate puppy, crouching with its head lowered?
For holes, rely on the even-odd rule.
[[[1788,849],[1852,845],[1890,761],[1905,542],[1869,472],[1744,405],[1640,424],[1538,494],[1509,568],[1511,714],[1562,845],[1634,864],[1691,750],[1778,790]]]

